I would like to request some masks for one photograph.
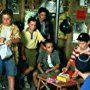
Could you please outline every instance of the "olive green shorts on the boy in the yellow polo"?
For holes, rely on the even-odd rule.
[[[25,48],[25,55],[26,55],[28,66],[36,67],[37,51],[35,49],[27,49],[27,48]]]

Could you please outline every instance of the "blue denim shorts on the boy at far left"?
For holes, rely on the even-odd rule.
[[[13,58],[4,60],[0,58],[0,75],[3,75],[3,73],[7,76],[16,76],[17,67]]]

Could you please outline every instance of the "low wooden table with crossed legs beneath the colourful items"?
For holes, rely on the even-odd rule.
[[[46,87],[47,90],[50,90],[50,88],[47,86],[48,82],[46,80],[46,77],[43,76],[43,75],[38,75],[37,76],[37,79],[39,80],[38,81],[38,87],[37,87],[37,90],[41,90],[43,87]],[[41,85],[42,83],[42,85]],[[67,87],[70,87],[70,86],[77,86],[77,90],[80,90],[80,84],[83,83],[83,79],[82,78],[79,78],[76,80],[76,83],[72,83],[72,82],[59,82],[59,83],[51,83],[51,85],[54,85],[57,87],[57,90],[62,90],[63,88],[67,88]]]

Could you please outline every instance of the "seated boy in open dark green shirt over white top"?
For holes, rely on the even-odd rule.
[[[37,74],[50,74],[57,75],[60,66],[59,54],[56,50],[53,50],[53,42],[49,39],[45,42],[45,50],[40,52],[37,60],[38,73],[34,73],[34,82],[37,85],[35,76]]]

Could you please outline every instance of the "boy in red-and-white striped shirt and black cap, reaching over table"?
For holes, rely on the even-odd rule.
[[[71,58],[67,63],[67,66],[62,69],[63,72],[68,71],[70,65],[75,67],[75,60],[79,56],[79,54],[85,53],[90,54],[89,42],[90,36],[87,33],[81,33],[78,38],[78,46],[74,48]],[[78,70],[75,68],[75,72],[72,77],[76,77],[78,75]]]

